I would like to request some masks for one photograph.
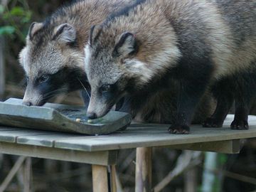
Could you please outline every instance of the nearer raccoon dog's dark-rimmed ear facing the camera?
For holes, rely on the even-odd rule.
[[[125,32],[122,33],[118,43],[114,46],[113,55],[127,57],[138,51],[138,43],[134,34]]]

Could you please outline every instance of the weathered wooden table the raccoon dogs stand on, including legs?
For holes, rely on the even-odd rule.
[[[118,151],[137,148],[136,191],[149,191],[151,147],[238,153],[240,139],[256,137],[256,117],[250,116],[249,130],[231,130],[232,119],[233,115],[228,115],[223,128],[192,126],[191,134],[185,135],[169,134],[169,126],[164,124],[132,124],[123,132],[100,136],[0,127],[0,152],[92,164],[93,191],[110,192],[116,191]]]

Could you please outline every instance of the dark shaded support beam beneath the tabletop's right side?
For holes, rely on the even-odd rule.
[[[223,154],[238,154],[240,152],[240,140],[228,140],[221,142],[203,142],[194,144],[178,144],[169,146],[171,149],[187,149],[193,151],[212,151]]]

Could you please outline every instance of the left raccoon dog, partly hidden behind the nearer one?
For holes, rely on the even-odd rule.
[[[75,1],[61,7],[42,23],[32,23],[21,50],[27,77],[25,105],[41,106],[61,92],[89,88],[84,70],[84,46],[90,26],[132,0]],[[85,104],[88,102],[85,94]]]

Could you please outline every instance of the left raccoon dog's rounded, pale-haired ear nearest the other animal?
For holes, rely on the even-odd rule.
[[[68,23],[61,24],[56,27],[53,32],[53,40],[62,43],[73,43],[76,40],[76,31],[73,26]]]

